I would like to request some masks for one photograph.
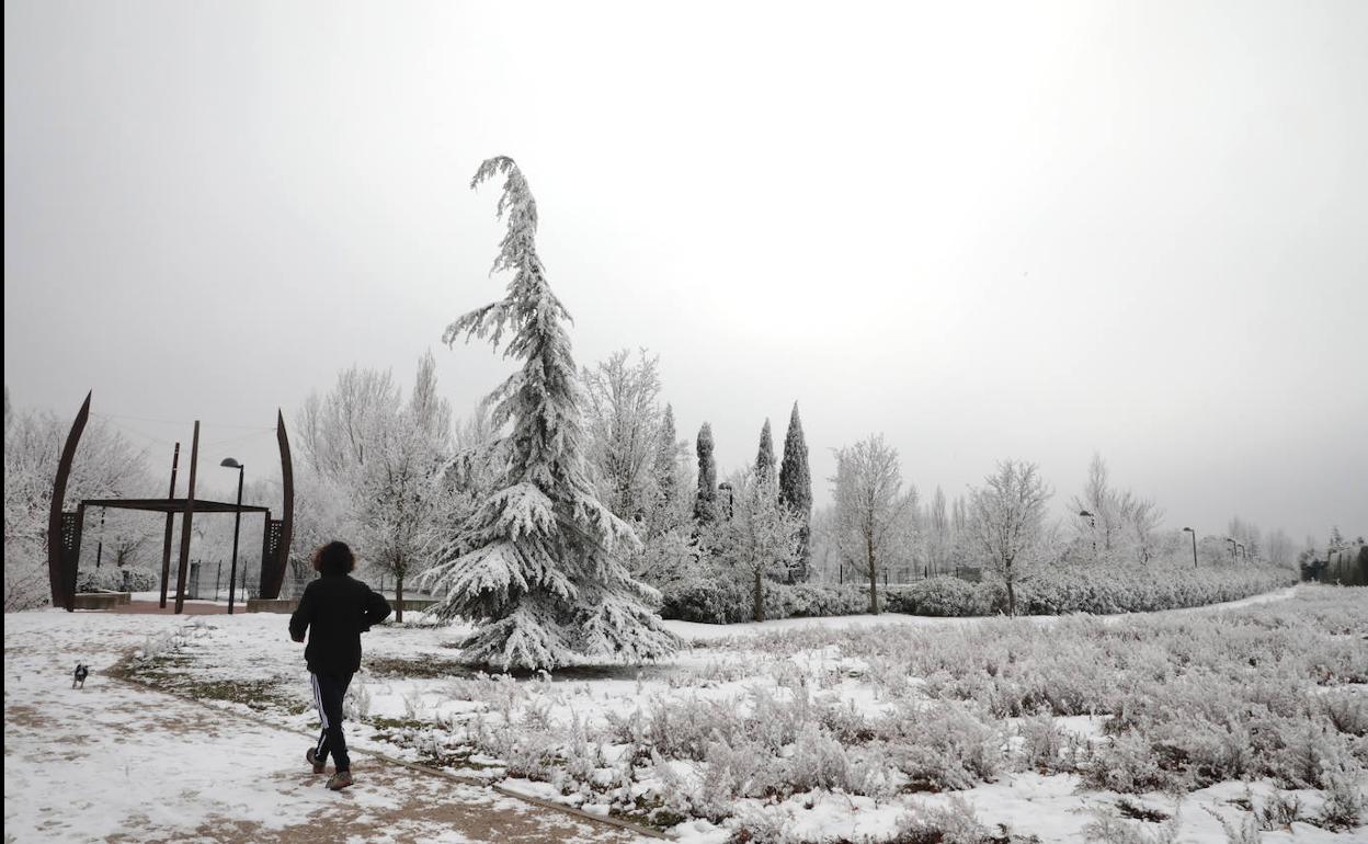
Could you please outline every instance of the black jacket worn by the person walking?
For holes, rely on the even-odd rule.
[[[290,637],[309,644],[304,658],[315,674],[354,674],[361,668],[361,633],[390,616],[390,602],[347,575],[324,575],[304,590],[290,616]]]

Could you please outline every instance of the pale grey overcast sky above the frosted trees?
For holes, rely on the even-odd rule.
[[[4,10],[5,384],[159,462],[278,475],[278,406],[427,349],[464,413],[509,155],[577,360],[658,353],[724,472],[798,401],[819,502],[884,432],[923,497],[1100,451],[1170,527],[1368,532],[1368,3]]]

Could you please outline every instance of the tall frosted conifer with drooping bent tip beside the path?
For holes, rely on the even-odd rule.
[[[480,164],[471,187],[505,176],[508,219],[492,272],[510,271],[503,300],[447,326],[443,341],[510,335],[505,357],[523,360],[488,398],[502,477],[457,528],[456,553],[425,581],[446,591],[443,618],[477,624],[462,643],[469,662],[546,669],[590,659],[640,662],[679,642],[653,611],[655,590],[633,580],[620,547],[639,540],[594,495],[583,458],[579,384],[565,323],[536,254],[536,200],[508,157]]]

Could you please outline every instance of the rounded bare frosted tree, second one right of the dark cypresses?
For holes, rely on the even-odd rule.
[[[1051,490],[1033,462],[1004,460],[970,498],[970,531],[988,569],[1007,587],[1016,614],[1016,587],[1044,559],[1045,505]]]

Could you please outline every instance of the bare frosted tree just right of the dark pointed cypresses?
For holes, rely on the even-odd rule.
[[[836,450],[833,536],[841,557],[869,581],[869,611],[878,614],[880,572],[910,540],[915,492],[903,491],[897,449],[877,434]]]

